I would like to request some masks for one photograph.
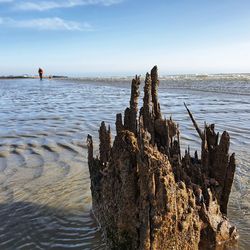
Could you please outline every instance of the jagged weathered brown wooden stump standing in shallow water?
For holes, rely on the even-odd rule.
[[[88,135],[93,212],[107,249],[216,249],[235,242],[238,232],[226,217],[235,172],[229,135],[219,139],[213,124],[202,131],[185,104],[201,138],[201,159],[189,150],[181,157],[179,128],[161,114],[158,85],[155,66],[139,111],[140,78],[132,81],[113,146],[110,128],[101,124],[100,157],[93,157]]]

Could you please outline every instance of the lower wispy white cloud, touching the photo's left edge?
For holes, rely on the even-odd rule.
[[[37,30],[68,30],[68,31],[91,31],[89,23],[79,23],[64,20],[59,17],[36,18],[28,20],[15,20],[12,18],[0,18],[0,25],[13,28],[27,28]]]

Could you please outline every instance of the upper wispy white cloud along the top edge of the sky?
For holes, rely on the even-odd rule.
[[[0,0],[1,1],[1,0]],[[54,1],[21,1],[14,5],[18,10],[46,11],[57,8],[71,8],[75,6],[102,5],[111,6],[123,0],[54,0]]]

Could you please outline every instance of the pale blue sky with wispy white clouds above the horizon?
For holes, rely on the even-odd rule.
[[[0,75],[250,73],[250,0],[0,0]]]

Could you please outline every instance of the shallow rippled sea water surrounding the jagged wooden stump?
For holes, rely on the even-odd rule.
[[[86,137],[97,150],[101,121],[114,133],[129,98],[129,81],[0,80],[0,249],[104,249],[91,214]],[[239,249],[249,249],[250,80],[165,79],[159,99],[179,123],[182,149],[200,150],[183,102],[201,127],[230,133],[237,169],[228,215]]]

